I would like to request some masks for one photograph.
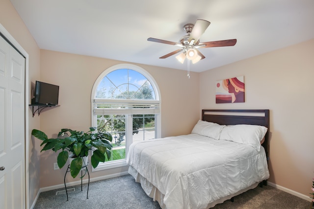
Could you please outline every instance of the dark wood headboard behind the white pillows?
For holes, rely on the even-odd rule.
[[[202,110],[202,120],[220,125],[262,125],[268,128],[262,146],[268,158],[269,110]]]

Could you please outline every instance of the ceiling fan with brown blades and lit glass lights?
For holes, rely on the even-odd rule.
[[[183,26],[183,29],[187,33],[187,35],[183,36],[179,40],[180,43],[155,38],[148,38],[147,41],[181,47],[180,49],[177,49],[173,52],[170,52],[169,54],[159,57],[160,59],[164,59],[181,52],[178,56],[176,56],[176,58],[181,63],[184,62],[184,59],[186,57],[187,59],[192,60],[192,63],[194,64],[205,58],[205,56],[198,50],[198,48],[235,46],[236,44],[236,39],[200,43],[200,37],[203,35],[209,24],[210,22],[206,20],[197,20],[195,25],[191,23],[185,24]]]

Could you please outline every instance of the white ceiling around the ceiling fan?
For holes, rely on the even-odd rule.
[[[204,71],[314,38],[314,0],[11,0],[41,49],[187,70],[175,55],[159,59],[186,35],[183,25],[211,24],[201,42],[237,39],[235,46],[199,48]]]

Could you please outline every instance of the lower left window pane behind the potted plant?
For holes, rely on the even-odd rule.
[[[109,161],[126,159],[126,117],[125,115],[98,115],[97,130],[112,135],[112,150]],[[107,161],[107,160],[106,160]]]

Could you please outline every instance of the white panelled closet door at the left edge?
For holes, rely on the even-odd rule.
[[[25,58],[0,37],[0,208],[25,209]]]

